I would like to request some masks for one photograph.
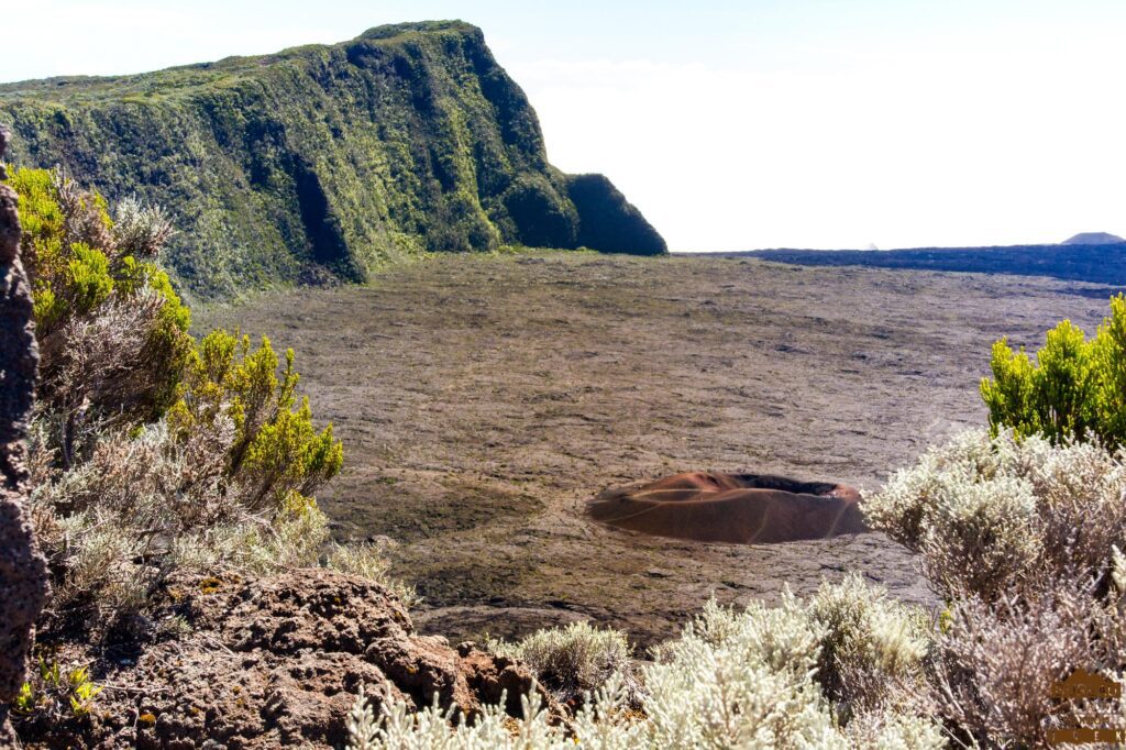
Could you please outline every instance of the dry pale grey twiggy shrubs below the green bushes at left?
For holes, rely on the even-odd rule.
[[[391,577],[384,546],[332,543],[315,503],[270,518],[239,502],[247,490],[226,476],[235,435],[226,417],[187,440],[175,439],[163,420],[109,430],[70,470],[52,467],[42,432],[37,425],[30,445],[36,537],[57,574],[55,609],[87,607],[91,626],[141,611],[176,571],[269,574],[323,565],[381,583],[408,606],[417,601]]]

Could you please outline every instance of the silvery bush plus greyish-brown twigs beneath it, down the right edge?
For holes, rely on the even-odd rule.
[[[1112,702],[1052,695],[1076,669],[1124,677],[1124,461],[1098,445],[977,430],[868,499],[874,525],[921,553],[947,601],[928,700],[958,736],[1042,747],[1052,729],[1093,725],[1084,715],[1124,726]]]

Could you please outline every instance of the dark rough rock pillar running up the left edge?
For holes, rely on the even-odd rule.
[[[8,135],[0,130],[0,159]],[[5,179],[0,166],[0,179]],[[16,194],[0,185],[0,745],[11,741],[8,702],[25,679],[35,619],[47,595],[46,562],[25,509],[23,440],[38,352],[32,295],[19,261]]]

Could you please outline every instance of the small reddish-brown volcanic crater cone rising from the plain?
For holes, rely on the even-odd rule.
[[[677,474],[608,490],[590,501],[591,518],[653,536],[766,544],[867,532],[860,493],[844,484],[768,474]]]

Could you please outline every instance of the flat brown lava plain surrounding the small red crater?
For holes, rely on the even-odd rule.
[[[368,287],[197,310],[196,328],[293,347],[346,467],[322,507],[386,536],[457,642],[593,618],[647,645],[723,602],[861,571],[932,602],[878,534],[742,546],[645,537],[583,516],[599,491],[694,470],[875,491],[984,422],[991,342],[1093,331],[1111,289],[1017,276],[805,268],[744,258],[449,256]]]

